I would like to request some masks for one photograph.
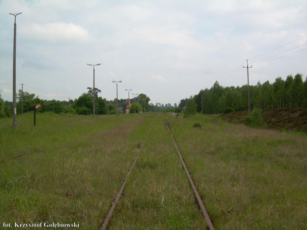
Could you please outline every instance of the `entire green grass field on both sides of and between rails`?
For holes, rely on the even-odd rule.
[[[217,230],[307,230],[306,136],[164,113],[0,119],[0,229],[100,229],[152,125],[109,229],[205,229],[164,119]]]

